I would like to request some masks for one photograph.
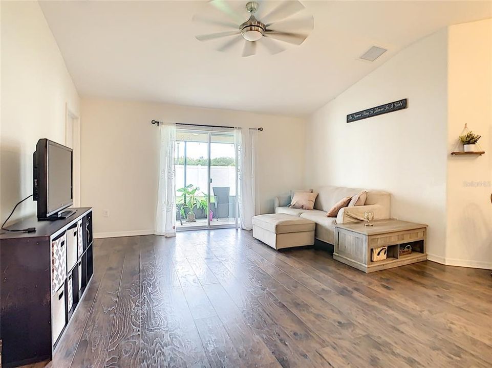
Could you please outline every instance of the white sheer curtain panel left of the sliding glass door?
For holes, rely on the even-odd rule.
[[[159,129],[160,155],[156,234],[174,237],[176,236],[176,124],[163,123]]]

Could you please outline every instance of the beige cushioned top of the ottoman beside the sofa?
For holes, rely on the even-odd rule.
[[[309,219],[286,214],[267,214],[253,217],[253,226],[275,234],[313,231],[315,223]]]

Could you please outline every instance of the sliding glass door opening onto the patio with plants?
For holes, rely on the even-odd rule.
[[[176,132],[177,230],[236,227],[237,152],[232,132]]]

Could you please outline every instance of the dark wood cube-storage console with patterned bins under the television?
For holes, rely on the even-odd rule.
[[[24,219],[0,235],[0,338],[5,367],[51,359],[92,280],[92,208],[67,219]]]

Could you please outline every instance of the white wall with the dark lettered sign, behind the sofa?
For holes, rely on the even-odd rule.
[[[401,51],[317,110],[306,133],[306,186],[386,190],[391,213],[429,225],[445,255],[447,30]],[[349,113],[408,98],[408,108],[346,123]]]

